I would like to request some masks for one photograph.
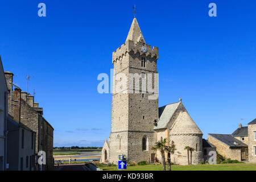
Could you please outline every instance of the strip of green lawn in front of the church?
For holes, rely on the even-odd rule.
[[[106,171],[118,171],[117,167],[102,167]],[[162,164],[147,164],[145,166],[128,166],[128,171],[162,171]],[[168,167],[166,166],[166,169]],[[172,171],[256,171],[256,164],[238,163],[238,164],[198,164],[192,166],[172,166]]]

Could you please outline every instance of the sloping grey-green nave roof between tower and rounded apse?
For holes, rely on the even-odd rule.
[[[166,128],[167,123],[170,121],[172,115],[174,115],[177,107],[180,105],[180,102],[169,104],[163,107],[159,107],[159,121],[158,126],[154,129],[164,129]]]

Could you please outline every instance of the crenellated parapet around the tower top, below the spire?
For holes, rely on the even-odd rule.
[[[143,47],[147,48],[147,52],[142,51]],[[151,47],[150,45],[143,44],[141,42],[127,40],[125,44],[122,44],[121,47],[118,47],[117,50],[113,52],[112,64],[114,64],[117,60],[122,59],[122,57],[125,56],[127,53],[139,53],[139,55],[145,55],[146,57],[155,57],[155,59],[158,59],[158,47]]]

